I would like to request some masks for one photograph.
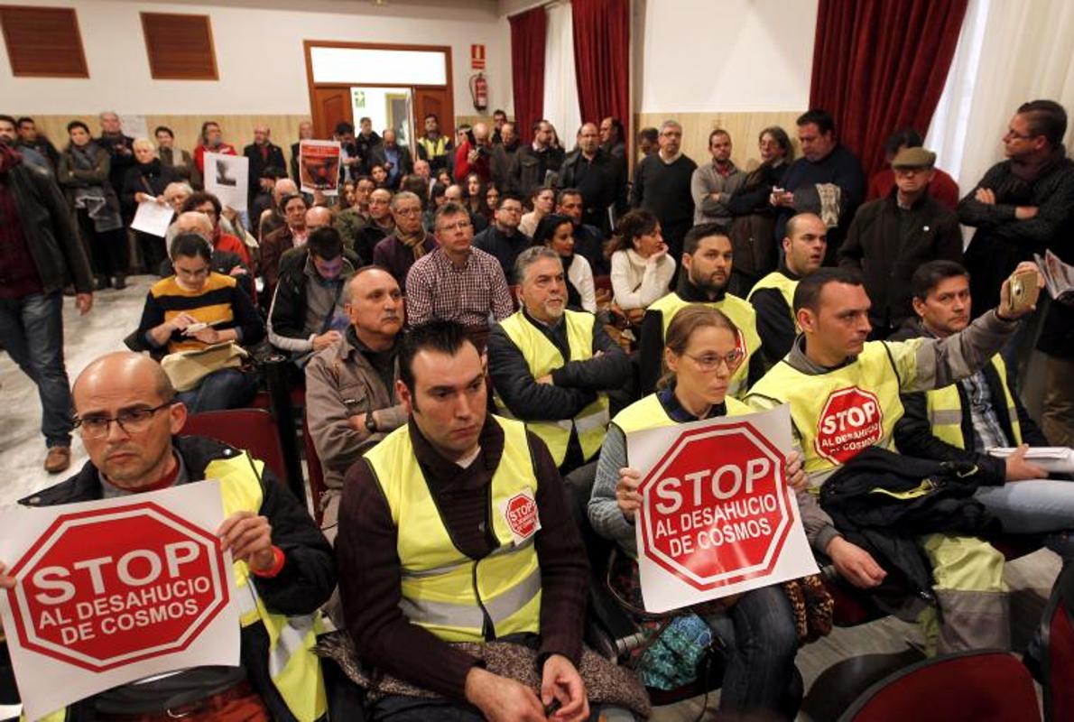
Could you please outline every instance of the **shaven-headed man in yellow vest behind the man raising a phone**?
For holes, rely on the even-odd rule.
[[[757,312],[757,333],[766,369],[787,355],[798,326],[795,322],[795,289],[798,281],[814,273],[824,262],[828,228],[821,217],[799,213],[787,221],[783,239],[783,262],[778,271],[757,281],[746,300]]]

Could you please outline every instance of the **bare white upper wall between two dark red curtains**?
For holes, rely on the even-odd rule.
[[[818,0],[635,0],[640,113],[808,107]]]

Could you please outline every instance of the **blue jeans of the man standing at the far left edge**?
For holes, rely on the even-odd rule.
[[[63,365],[63,294],[0,299],[0,346],[38,385],[41,433],[49,448],[71,446],[71,382]]]

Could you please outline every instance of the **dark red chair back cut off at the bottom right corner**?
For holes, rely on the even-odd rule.
[[[1074,564],[1056,580],[1044,624],[1044,719],[1074,720]]]

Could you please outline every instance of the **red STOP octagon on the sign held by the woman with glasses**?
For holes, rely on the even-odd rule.
[[[770,574],[794,521],[783,465],[748,421],[683,432],[639,486],[641,553],[700,591]]]

